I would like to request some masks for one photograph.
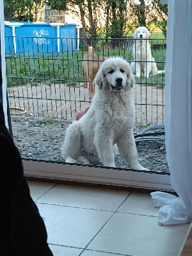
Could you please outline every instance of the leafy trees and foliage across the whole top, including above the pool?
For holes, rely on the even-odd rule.
[[[160,0],[4,0],[5,20],[38,21],[44,4],[52,10],[73,13],[90,38],[124,38],[138,26],[160,28],[166,37],[168,7]],[[88,45],[95,47],[97,41]]]

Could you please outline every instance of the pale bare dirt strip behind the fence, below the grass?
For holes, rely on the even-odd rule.
[[[91,104],[90,92],[88,88],[84,88],[83,83],[76,86],[28,84],[8,88],[8,95],[11,108],[25,109],[25,116],[74,119],[79,111]],[[164,88],[136,84],[133,97],[138,125],[164,123]],[[12,109],[12,113],[14,112],[15,109]]]

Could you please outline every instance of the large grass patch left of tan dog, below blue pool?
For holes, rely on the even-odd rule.
[[[35,85],[40,82],[76,84],[83,80],[82,58],[73,56],[20,56],[6,59],[8,86]]]

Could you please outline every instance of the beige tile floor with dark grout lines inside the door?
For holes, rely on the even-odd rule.
[[[159,225],[147,194],[28,184],[54,256],[177,256],[189,229]]]

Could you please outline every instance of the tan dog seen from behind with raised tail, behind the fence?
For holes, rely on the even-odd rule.
[[[84,71],[84,79],[86,82],[84,83],[84,88],[88,87],[88,81],[90,82],[90,98],[93,98],[94,95],[94,85],[93,79],[95,78],[97,71],[99,70],[102,61],[106,60],[106,57],[95,55],[95,51],[92,46],[89,47],[88,53],[83,56],[83,71]]]

